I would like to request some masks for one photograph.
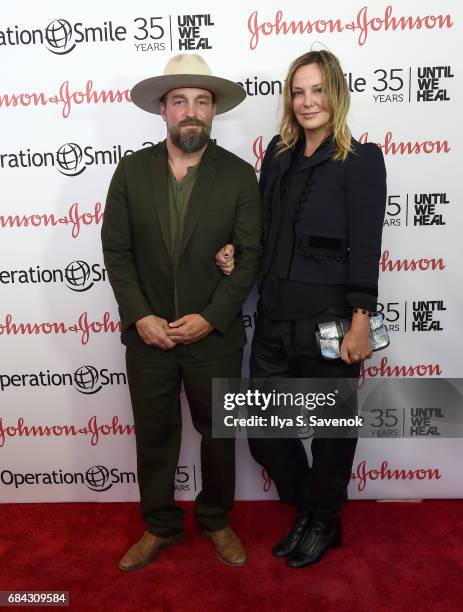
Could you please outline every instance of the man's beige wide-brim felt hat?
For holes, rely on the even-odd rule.
[[[228,79],[212,76],[211,69],[200,55],[175,55],[164,68],[164,74],[140,81],[130,92],[132,102],[155,115],[160,115],[159,100],[171,89],[198,87],[215,95],[216,114],[226,113],[246,97],[245,90]]]

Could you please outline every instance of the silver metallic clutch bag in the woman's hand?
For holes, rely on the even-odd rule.
[[[369,319],[371,346],[374,351],[380,351],[390,344],[389,332],[380,314],[374,313]],[[350,323],[349,319],[338,319],[318,324],[315,338],[322,357],[325,359],[340,358],[342,340],[350,328]]]

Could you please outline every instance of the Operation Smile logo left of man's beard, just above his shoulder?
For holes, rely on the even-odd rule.
[[[152,147],[151,141],[142,142],[142,147]],[[54,167],[64,176],[79,176],[88,166],[116,165],[122,157],[131,155],[136,149],[125,149],[120,144],[109,149],[96,149],[92,145],[80,146],[66,142],[55,152],[23,149],[14,153],[0,153],[0,168]]]

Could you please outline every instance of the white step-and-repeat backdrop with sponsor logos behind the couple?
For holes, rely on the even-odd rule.
[[[290,61],[313,46],[339,56],[352,131],[381,146],[388,170],[380,299],[392,345],[362,376],[460,376],[462,17],[451,0],[2,7],[1,501],[138,497],[100,230],[120,157],[165,135],[158,117],[131,103],[130,88],[179,52],[204,55],[215,74],[245,87],[247,99],[216,119],[213,137],[257,173]],[[253,295],[249,336],[254,306]],[[184,408],[176,484],[179,499],[192,499],[199,447]],[[463,496],[460,439],[378,435],[359,443],[351,498]],[[276,497],[245,440],[237,461],[238,499]]]

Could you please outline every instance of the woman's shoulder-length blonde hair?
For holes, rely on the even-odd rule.
[[[288,70],[283,89],[283,117],[280,123],[279,152],[293,149],[296,142],[304,134],[303,128],[297,122],[293,111],[293,79],[301,66],[318,64],[323,78],[323,97],[326,108],[331,115],[331,128],[335,154],[333,159],[346,159],[352,151],[351,132],[347,125],[350,95],[346,79],[338,58],[329,51],[309,51],[297,57]]]

